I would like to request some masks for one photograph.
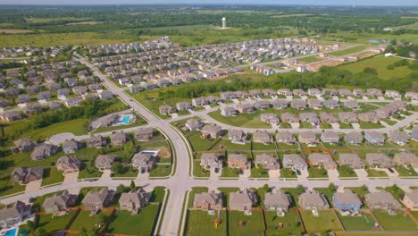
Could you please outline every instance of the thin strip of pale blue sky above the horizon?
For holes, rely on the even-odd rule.
[[[0,0],[0,4],[314,4],[418,6],[418,0]]]

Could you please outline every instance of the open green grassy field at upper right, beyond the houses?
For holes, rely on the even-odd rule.
[[[397,63],[400,60],[402,59],[397,57],[384,57],[380,55],[362,60],[360,62],[341,65],[339,68],[348,70],[350,72],[363,72],[364,68],[371,67],[376,69],[381,79],[399,79],[401,77],[405,77],[408,73],[413,72],[409,70],[407,66],[400,66],[394,70],[388,70],[387,67],[389,64]]]

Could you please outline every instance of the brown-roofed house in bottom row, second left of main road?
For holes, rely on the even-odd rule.
[[[104,207],[109,206],[113,200],[113,196],[113,191],[104,187],[98,191],[89,191],[81,202],[86,210],[96,213]]]

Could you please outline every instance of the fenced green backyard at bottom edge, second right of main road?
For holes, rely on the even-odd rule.
[[[229,211],[228,235],[262,235],[262,217],[261,211],[253,210],[252,215],[244,215],[244,212],[241,211]]]

